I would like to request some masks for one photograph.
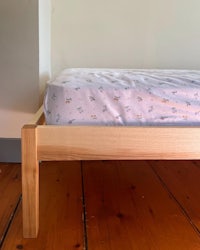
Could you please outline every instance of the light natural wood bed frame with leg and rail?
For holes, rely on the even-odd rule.
[[[200,127],[45,125],[42,107],[22,128],[23,236],[39,230],[39,161],[200,159]]]

